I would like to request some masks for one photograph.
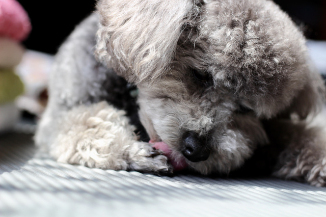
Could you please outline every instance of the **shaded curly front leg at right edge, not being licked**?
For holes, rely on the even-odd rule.
[[[321,117],[316,117],[318,118]],[[316,123],[307,125],[281,121],[273,129],[276,133],[275,145],[285,147],[279,156],[274,175],[308,182],[315,186],[326,186],[325,128]]]

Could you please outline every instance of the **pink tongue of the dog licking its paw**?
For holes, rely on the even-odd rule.
[[[175,159],[172,157],[172,150],[166,143],[154,142],[152,140],[149,141],[149,143],[154,143],[153,147],[161,150],[163,154],[169,158],[174,171],[180,171],[187,167],[187,164],[184,159]]]

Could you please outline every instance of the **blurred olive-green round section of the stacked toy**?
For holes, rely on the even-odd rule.
[[[24,91],[24,85],[13,69],[0,69],[0,105],[14,101]]]

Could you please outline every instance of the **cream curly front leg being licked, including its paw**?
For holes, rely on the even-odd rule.
[[[106,102],[81,105],[65,113],[50,153],[60,162],[91,168],[167,173],[167,158],[137,141],[124,111]]]

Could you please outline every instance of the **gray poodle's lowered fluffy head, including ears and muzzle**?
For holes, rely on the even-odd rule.
[[[139,88],[150,138],[203,174],[268,143],[262,119],[319,101],[305,39],[271,1],[102,0],[97,57]]]

